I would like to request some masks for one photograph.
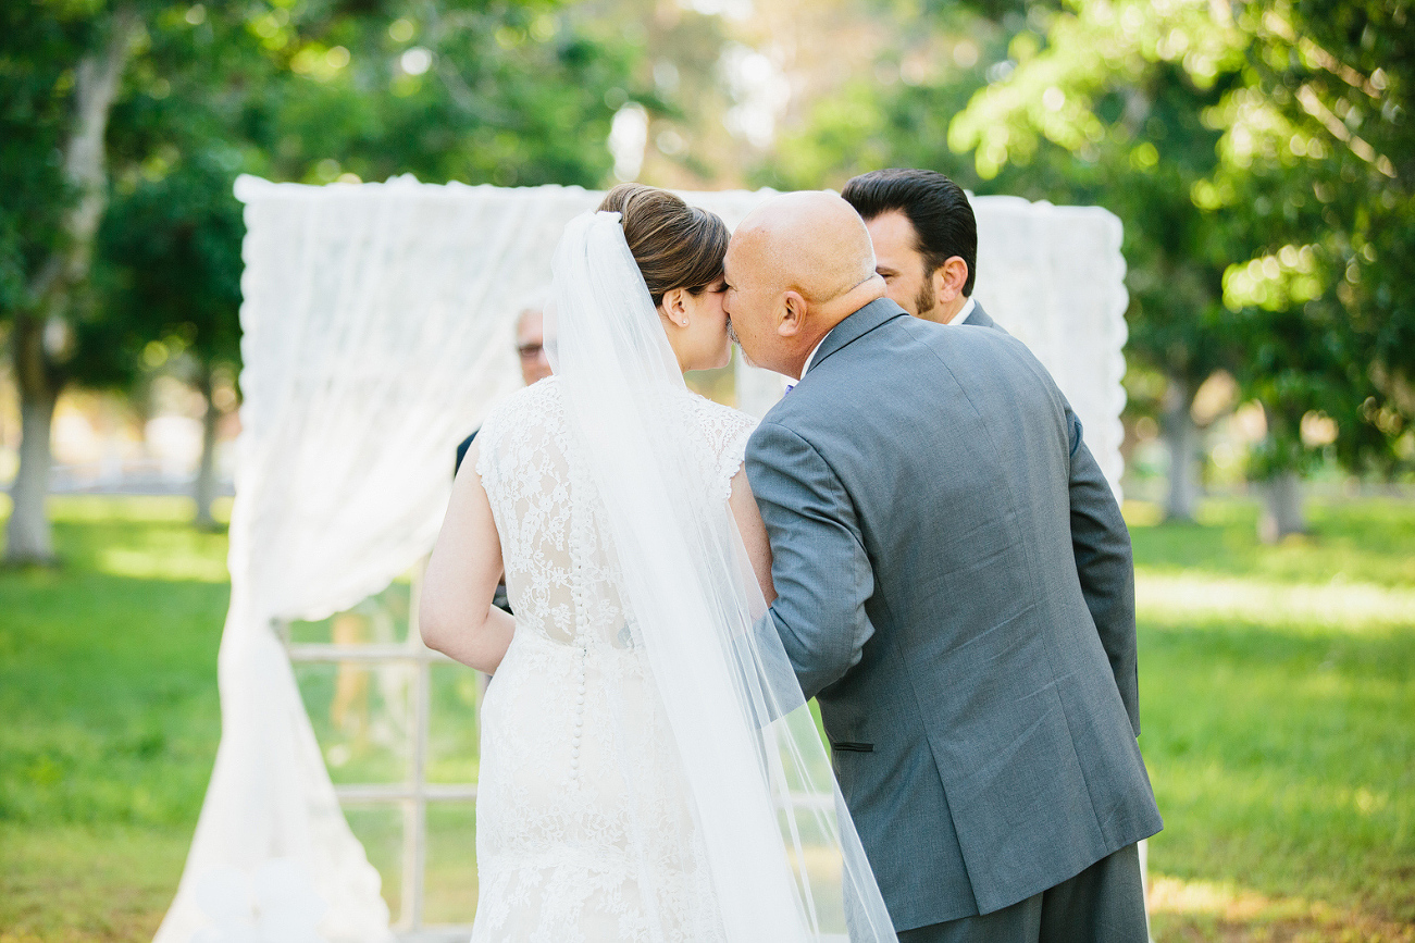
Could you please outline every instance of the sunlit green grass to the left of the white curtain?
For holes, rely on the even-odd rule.
[[[225,535],[191,511],[54,498],[61,566],[0,572],[0,943],[146,942],[171,902],[229,596]]]

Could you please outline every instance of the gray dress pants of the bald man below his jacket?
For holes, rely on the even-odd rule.
[[[1145,886],[1135,845],[1010,908],[921,926],[900,943],[1146,943]]]

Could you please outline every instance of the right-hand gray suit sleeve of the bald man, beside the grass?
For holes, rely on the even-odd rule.
[[[1135,653],[1135,559],[1131,532],[1115,493],[1081,439],[1081,421],[1065,408],[1071,428],[1071,551],[1081,593],[1111,660],[1115,687],[1135,736],[1140,735]]]

